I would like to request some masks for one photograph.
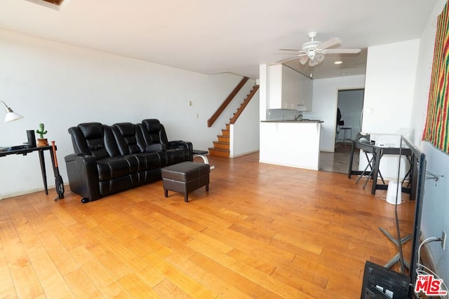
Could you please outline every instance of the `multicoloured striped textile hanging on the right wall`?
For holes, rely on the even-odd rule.
[[[449,12],[448,3],[438,16],[434,62],[432,65],[427,106],[427,120],[422,140],[429,141],[445,153],[449,153]]]

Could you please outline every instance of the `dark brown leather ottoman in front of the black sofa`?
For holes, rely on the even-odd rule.
[[[161,169],[164,196],[168,190],[183,193],[184,201],[189,202],[189,192],[202,186],[209,190],[210,166],[199,162],[181,162]]]

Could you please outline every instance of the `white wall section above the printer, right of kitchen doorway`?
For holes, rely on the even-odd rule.
[[[420,40],[368,48],[362,131],[393,134],[410,126]]]

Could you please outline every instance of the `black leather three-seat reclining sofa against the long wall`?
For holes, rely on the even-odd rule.
[[[156,119],[81,123],[69,128],[74,153],[65,157],[70,189],[81,202],[161,179],[161,168],[193,160],[192,143],[168,141]]]

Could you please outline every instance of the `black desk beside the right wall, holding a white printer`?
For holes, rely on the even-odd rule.
[[[379,165],[380,165],[380,159],[382,159],[383,155],[406,155],[407,157],[410,157],[412,155],[412,151],[410,151],[410,148],[395,148],[395,147],[382,147],[382,146],[375,146],[374,144],[371,144],[370,142],[361,139],[361,140],[353,140],[352,146],[351,146],[351,158],[349,160],[349,172],[348,172],[348,178],[351,179],[351,174],[362,174],[362,171],[360,170],[353,170],[352,169],[352,160],[354,158],[354,149],[358,148],[363,151],[366,151],[367,153],[372,153],[375,155],[374,160],[374,167],[373,167],[373,174],[371,176],[371,179],[373,179],[373,187],[371,188],[371,194],[375,195],[376,190],[387,190],[388,185],[384,183],[377,183],[377,176],[379,176]],[[410,162],[410,160],[409,160]],[[411,166],[411,165],[410,165]],[[411,193],[411,188],[402,186],[402,192],[403,193]]]

